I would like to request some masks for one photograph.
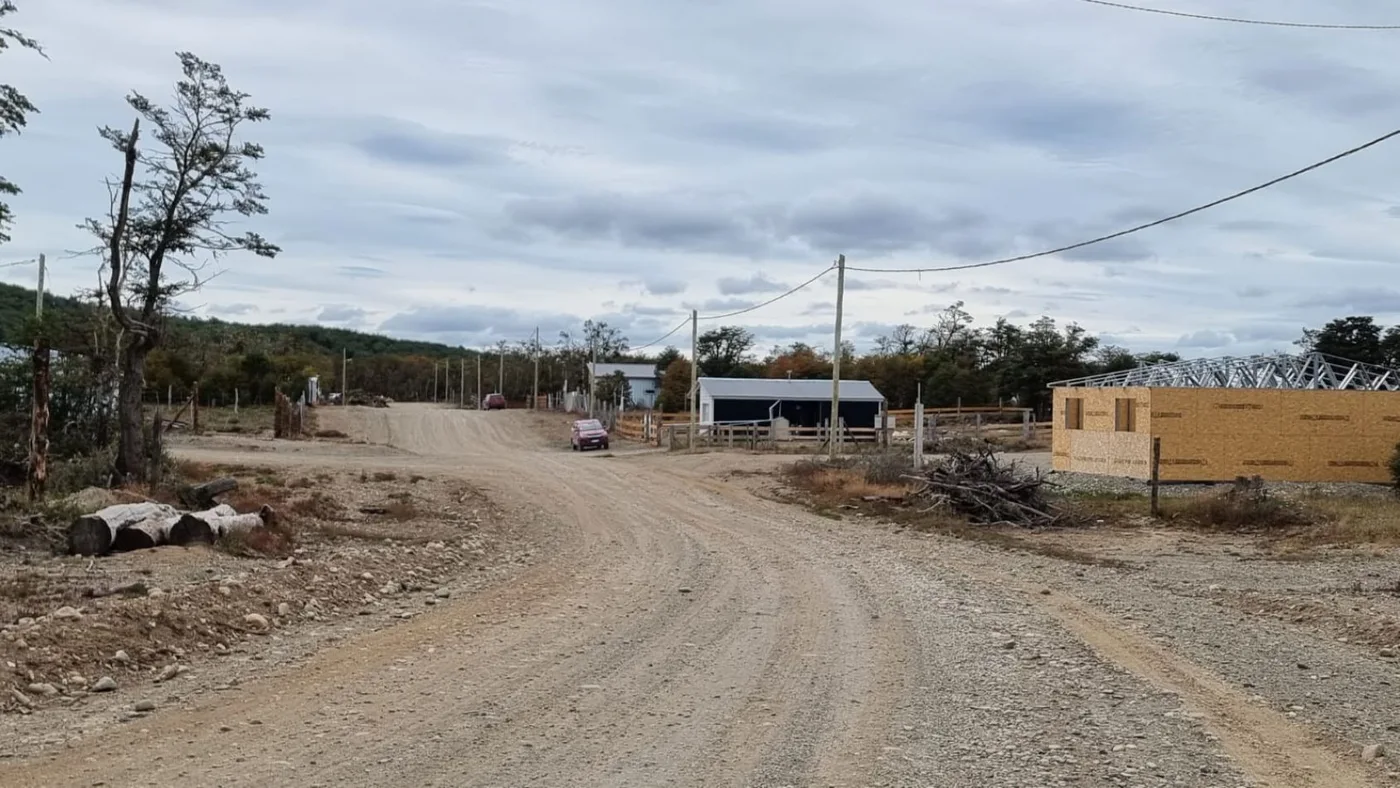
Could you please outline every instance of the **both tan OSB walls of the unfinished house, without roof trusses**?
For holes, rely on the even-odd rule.
[[[1064,430],[1064,397],[1084,396],[1084,430]],[[1135,432],[1113,432],[1113,400],[1149,403]],[[1107,410],[1109,417],[1089,418]],[[1145,439],[1138,439],[1138,438]],[[1144,479],[1162,438],[1165,481],[1261,476],[1389,481],[1400,393],[1292,389],[1057,389],[1054,467]]]

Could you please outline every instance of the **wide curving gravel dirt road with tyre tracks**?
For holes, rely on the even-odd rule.
[[[1061,589],[909,560],[715,480],[714,460],[574,455],[512,413],[322,427],[388,448],[255,460],[466,477],[550,512],[554,549],[237,698],[0,766],[0,785],[1372,784]]]

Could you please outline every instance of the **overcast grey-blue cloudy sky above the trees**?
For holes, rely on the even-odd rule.
[[[1400,24],[1383,0],[1142,0]],[[119,167],[99,125],[165,98],[189,49],[273,119],[284,249],[188,300],[454,344],[601,318],[634,344],[846,253],[869,267],[1033,252],[1267,181],[1400,126],[1400,31],[1179,20],[1078,0],[17,0],[49,60],[0,143],[14,241],[91,244]],[[1287,350],[1348,314],[1400,322],[1400,140],[1180,223],[953,274],[851,274],[861,344],[965,301],[1133,350]],[[57,259],[53,288],[95,280]],[[32,269],[0,279],[29,283]],[[830,344],[834,277],[732,322]],[[714,323],[711,323],[714,325]],[[689,342],[685,332],[678,340]]]

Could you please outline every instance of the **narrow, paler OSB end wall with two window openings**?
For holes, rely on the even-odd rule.
[[[1131,476],[1151,474],[1154,389],[1056,389],[1050,463],[1056,470]],[[1065,430],[1065,399],[1084,399],[1082,430]],[[1133,400],[1133,431],[1116,430],[1119,399]]]

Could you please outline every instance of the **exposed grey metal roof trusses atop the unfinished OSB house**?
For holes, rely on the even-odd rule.
[[[1400,391],[1400,371],[1323,353],[1172,361],[1057,381],[1051,388]]]

